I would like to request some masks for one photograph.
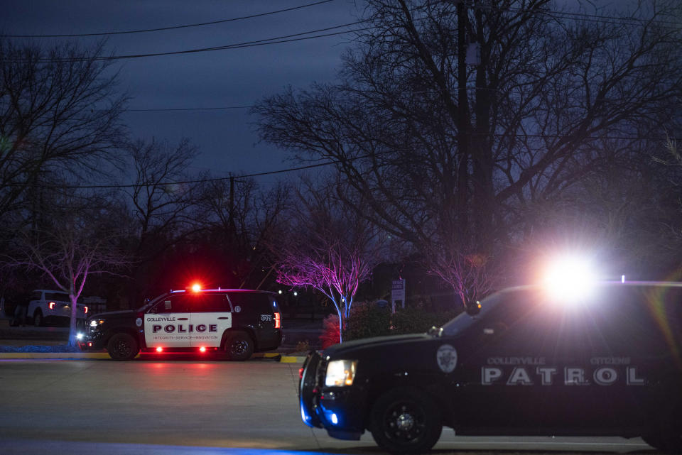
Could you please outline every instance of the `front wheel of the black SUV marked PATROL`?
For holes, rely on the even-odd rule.
[[[414,388],[381,395],[370,415],[374,441],[391,454],[417,454],[431,449],[443,431],[433,400]]]

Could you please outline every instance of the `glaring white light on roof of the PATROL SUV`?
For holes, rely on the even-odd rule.
[[[592,263],[579,256],[552,261],[543,276],[543,287],[554,300],[561,302],[575,302],[587,297],[596,283],[597,275]]]

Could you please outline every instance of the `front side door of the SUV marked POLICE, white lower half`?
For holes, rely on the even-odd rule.
[[[148,348],[190,347],[191,307],[184,293],[161,298],[144,315],[144,341]]]

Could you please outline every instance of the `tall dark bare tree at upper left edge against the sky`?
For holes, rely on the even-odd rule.
[[[0,39],[0,216],[31,207],[44,172],[71,180],[107,172],[124,134],[103,43],[52,48]]]

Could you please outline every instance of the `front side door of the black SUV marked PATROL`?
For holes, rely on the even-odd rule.
[[[545,424],[551,385],[553,330],[525,294],[504,297],[458,339],[453,416],[469,432],[504,429],[532,434]]]

